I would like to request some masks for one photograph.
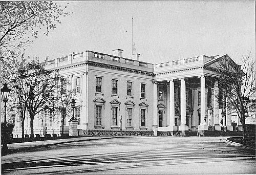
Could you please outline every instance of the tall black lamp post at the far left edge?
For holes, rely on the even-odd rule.
[[[4,83],[4,87],[1,89],[1,94],[3,97],[3,101],[5,103],[5,120],[4,120],[4,133],[3,133],[3,147],[2,147],[2,154],[3,152],[5,152],[6,150],[8,150],[8,146],[7,146],[7,130],[6,130],[6,103],[8,102],[8,97],[10,94],[10,89],[7,87],[7,84]]]

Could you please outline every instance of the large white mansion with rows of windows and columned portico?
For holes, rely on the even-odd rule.
[[[41,64],[57,69],[75,90],[75,118],[79,135],[150,136],[232,130],[231,115],[219,102],[216,63],[223,56],[198,56],[164,63],[147,63],[123,58],[122,50],[113,55],[85,51]],[[65,133],[69,132],[68,116]],[[239,120],[238,120],[239,121]],[[29,117],[25,134],[30,134]],[[241,123],[238,122],[241,130]],[[34,119],[34,134],[61,133],[61,115],[42,112]],[[20,116],[15,116],[13,137],[21,137]]]

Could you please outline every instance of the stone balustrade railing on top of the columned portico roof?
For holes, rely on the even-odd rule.
[[[203,56],[197,56],[197,57],[192,57],[192,58],[173,60],[172,64],[170,64],[169,61],[156,63],[155,68],[162,69],[162,68],[168,68],[168,67],[176,67],[176,66],[180,66],[180,65],[184,65],[184,64],[199,63],[201,61],[203,61]]]

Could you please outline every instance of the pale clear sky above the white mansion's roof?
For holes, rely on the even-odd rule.
[[[39,35],[26,55],[44,60],[91,50],[132,54],[151,63],[200,55],[255,58],[254,1],[79,1],[49,35]],[[236,58],[235,58],[236,57]]]

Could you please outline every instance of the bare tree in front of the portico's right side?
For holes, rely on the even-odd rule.
[[[219,59],[215,71],[219,80],[219,101],[227,113],[236,111],[242,123],[243,140],[246,135],[246,110],[255,85],[255,60],[251,53],[241,57],[241,65],[234,62],[228,55]]]

